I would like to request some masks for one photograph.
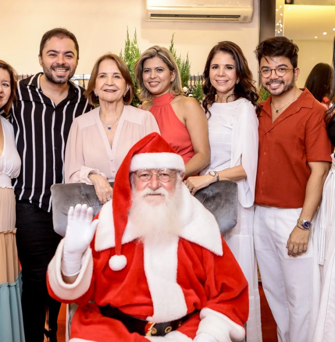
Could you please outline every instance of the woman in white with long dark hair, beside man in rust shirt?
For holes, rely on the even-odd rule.
[[[260,299],[253,248],[253,201],[258,159],[257,90],[241,49],[233,42],[218,43],[203,72],[211,162],[186,185],[194,194],[218,180],[237,183],[236,226],[224,235],[249,283],[248,342],[262,341]]]

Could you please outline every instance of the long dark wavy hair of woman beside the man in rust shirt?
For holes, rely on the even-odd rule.
[[[214,55],[218,52],[229,53],[234,58],[236,64],[236,76],[239,78],[239,83],[237,83],[234,87],[234,98],[246,98],[254,105],[254,107],[256,108],[256,112],[258,113],[259,107],[257,104],[257,89],[254,86],[255,82],[252,79],[252,73],[248,66],[247,59],[245,58],[241,48],[230,41],[219,42],[216,46],[212,48],[212,50],[208,54],[205,68],[202,74],[204,78],[202,89],[205,95],[205,98],[202,102],[202,106],[205,110],[205,113],[208,112],[209,116],[211,115],[209,107],[215,102],[215,95],[217,93],[217,90],[211,84],[211,81],[209,79],[209,70],[212,59]]]

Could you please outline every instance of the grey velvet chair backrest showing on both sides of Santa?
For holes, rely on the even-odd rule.
[[[113,186],[113,183],[111,183]],[[221,233],[232,229],[237,222],[237,184],[219,181],[196,192],[195,197],[215,216]],[[77,203],[91,206],[94,215],[101,204],[92,185],[84,183],[54,184],[51,186],[53,229],[65,236],[67,211]]]

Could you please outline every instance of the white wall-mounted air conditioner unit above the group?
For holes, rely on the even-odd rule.
[[[147,20],[251,22],[253,0],[146,0]]]

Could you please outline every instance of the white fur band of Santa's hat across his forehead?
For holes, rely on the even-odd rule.
[[[183,158],[176,153],[135,154],[130,163],[130,172],[141,169],[175,169],[185,172],[185,164]]]

